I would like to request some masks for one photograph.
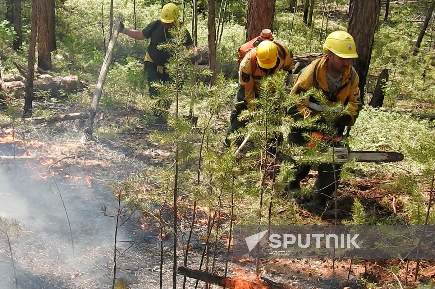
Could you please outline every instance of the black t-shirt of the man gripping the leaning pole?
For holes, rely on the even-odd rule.
[[[164,28],[160,20],[148,24],[147,27],[142,29],[142,34],[144,34],[146,38],[151,39],[150,45],[148,46],[148,54],[150,54],[153,63],[164,66],[169,57],[171,57],[171,54],[165,50],[158,50],[157,46],[159,44],[168,43],[172,35]],[[184,42],[184,46],[190,46],[192,44],[192,37],[189,31],[186,30],[186,42]]]

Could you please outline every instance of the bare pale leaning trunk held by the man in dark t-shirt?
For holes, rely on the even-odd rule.
[[[118,40],[119,26],[121,23],[121,18],[118,17],[113,30],[112,38],[110,38],[109,46],[107,47],[106,56],[104,57],[103,65],[101,66],[100,75],[98,76],[97,87],[94,92],[94,97],[92,97],[92,102],[90,104],[89,118],[86,121],[86,127],[84,130],[84,136],[87,134],[92,136],[94,131],[94,118],[98,111],[98,106],[100,104],[101,94],[103,93],[104,82],[106,81],[107,72],[109,71],[110,62],[112,62],[113,51],[115,44]]]

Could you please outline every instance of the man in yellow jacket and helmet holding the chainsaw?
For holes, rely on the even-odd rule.
[[[328,105],[349,104],[348,114],[335,120],[338,135],[342,135],[346,133],[345,128],[350,128],[355,123],[358,111],[361,109],[359,78],[351,66],[351,60],[357,58],[358,54],[353,37],[345,31],[329,34],[323,50],[325,51],[323,57],[313,61],[298,74],[291,93],[299,94],[315,87],[324,92]],[[310,97],[290,108],[288,113],[298,120],[319,114],[319,110],[318,103]],[[306,145],[307,140],[303,137],[303,133],[311,133],[311,131],[293,129],[288,135],[288,142],[294,145]],[[337,173],[334,176],[331,164],[319,165],[319,176],[314,186],[314,207],[324,208],[323,205],[334,192],[334,181],[339,180],[341,166],[335,165],[335,169]],[[289,189],[300,189],[300,181],[308,175],[309,171],[310,165],[298,165],[295,168],[295,180],[289,184]],[[305,202],[304,199],[301,201]]]

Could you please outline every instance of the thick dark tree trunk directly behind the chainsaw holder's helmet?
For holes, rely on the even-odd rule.
[[[349,8],[348,32],[354,37],[358,58],[354,67],[359,76],[359,89],[364,95],[370,66],[371,50],[375,41],[375,30],[378,24],[381,3],[379,0],[352,1]],[[361,97],[364,105],[364,97]]]

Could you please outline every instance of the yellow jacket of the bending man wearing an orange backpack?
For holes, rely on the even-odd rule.
[[[255,57],[257,48],[250,50],[240,63],[239,85],[244,87],[244,100],[248,106],[260,88],[260,81],[263,77],[276,74],[280,69],[291,71],[294,68],[291,50],[282,42],[274,41],[274,43],[278,45],[278,66],[266,71],[259,67]]]

